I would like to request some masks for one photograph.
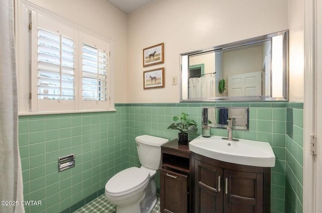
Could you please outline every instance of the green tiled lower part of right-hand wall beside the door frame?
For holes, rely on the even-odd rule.
[[[291,102],[293,108],[293,138],[285,136],[285,212],[303,212],[303,104]]]

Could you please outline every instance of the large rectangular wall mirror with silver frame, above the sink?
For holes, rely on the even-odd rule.
[[[181,101],[287,100],[288,31],[181,54]]]

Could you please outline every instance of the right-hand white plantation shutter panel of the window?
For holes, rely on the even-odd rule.
[[[80,108],[109,109],[111,107],[110,43],[86,33],[80,37],[82,41]]]

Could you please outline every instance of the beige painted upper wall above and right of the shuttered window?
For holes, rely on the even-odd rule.
[[[116,103],[126,102],[127,17],[105,0],[27,0],[69,21],[86,27],[114,43]]]

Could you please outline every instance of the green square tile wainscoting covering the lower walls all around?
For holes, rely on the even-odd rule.
[[[293,139],[285,134],[286,105],[295,108]],[[117,112],[109,113],[21,116],[25,199],[43,201],[42,206],[26,207],[26,212],[69,212],[84,205],[96,192],[104,192],[105,183],[116,172],[139,166],[136,136],[175,139],[178,131],[167,129],[173,116],[185,112],[200,125],[200,107],[211,106],[250,107],[250,131],[234,131],[233,137],[272,145],[276,165],[272,168],[271,212],[301,212],[303,103],[297,102],[127,103],[116,104]],[[190,140],[201,134],[198,129]],[[212,129],[211,134],[227,133]],[[58,173],[57,158],[70,153],[76,154],[75,168]]]

